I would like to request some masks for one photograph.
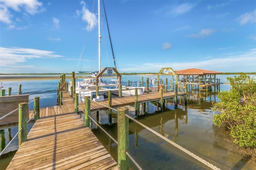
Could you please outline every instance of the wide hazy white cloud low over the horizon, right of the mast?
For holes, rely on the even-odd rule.
[[[206,58],[206,57],[205,57]],[[163,67],[172,67],[174,71],[198,68],[220,72],[255,72],[256,71],[256,48],[250,49],[243,54],[228,55],[222,58],[211,58],[195,62],[173,62],[173,63],[140,63],[140,65],[129,65],[128,69],[119,69],[120,73],[158,73]]]

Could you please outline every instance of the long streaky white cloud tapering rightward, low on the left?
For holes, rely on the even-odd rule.
[[[18,63],[26,62],[27,59],[62,57],[62,55],[54,54],[53,51],[44,51],[31,48],[0,47],[0,51],[1,67],[8,67],[9,65],[18,65]]]

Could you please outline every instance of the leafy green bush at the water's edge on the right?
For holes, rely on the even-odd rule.
[[[232,89],[218,93],[214,103],[213,122],[230,129],[234,143],[240,147],[256,147],[256,82],[241,74],[227,77]]]

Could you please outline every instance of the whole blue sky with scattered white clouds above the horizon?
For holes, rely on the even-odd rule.
[[[120,73],[162,67],[256,72],[255,0],[104,2]],[[97,71],[98,2],[93,4],[0,0],[0,73]],[[101,16],[101,67],[114,67],[102,3]]]

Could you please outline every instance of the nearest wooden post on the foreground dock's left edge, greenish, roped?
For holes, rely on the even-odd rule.
[[[19,123],[18,123],[18,130],[22,129],[18,136],[19,136],[19,146],[22,142],[27,141],[27,121],[28,121],[28,103],[19,103]]]

